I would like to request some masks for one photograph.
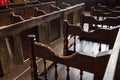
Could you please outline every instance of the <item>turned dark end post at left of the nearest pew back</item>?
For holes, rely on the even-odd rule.
[[[34,55],[34,38],[35,35],[28,35],[29,38],[29,45],[30,45],[30,61],[31,61],[31,79],[38,80],[38,73],[37,73],[37,64],[36,64],[36,57]]]

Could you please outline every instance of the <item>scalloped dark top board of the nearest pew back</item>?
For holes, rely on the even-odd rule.
[[[67,55],[67,56],[59,56],[48,45],[38,43],[38,42],[34,43],[33,41],[31,43],[32,43],[31,47],[33,48],[32,52],[33,52],[34,56],[38,56],[38,57],[43,58],[44,60],[51,60],[55,63],[61,63],[66,66],[74,67],[74,68],[77,68],[80,70],[92,72],[95,74],[95,80],[102,79],[105,69],[106,69],[107,62],[109,60],[110,53],[111,53],[111,51],[105,51],[105,52],[99,53],[99,55],[94,56],[94,57],[89,56],[89,55],[80,54],[80,53],[73,53],[73,54]],[[38,51],[39,54],[36,54],[36,51]],[[75,62],[77,62],[77,63],[75,63]],[[98,66],[98,64],[99,64],[99,66]],[[99,69],[101,67],[103,69],[101,71],[99,71]],[[37,76],[32,76],[32,77],[35,78]],[[46,78],[47,78],[47,76],[46,76]]]

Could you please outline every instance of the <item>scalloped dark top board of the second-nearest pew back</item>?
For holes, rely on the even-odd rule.
[[[93,32],[85,32],[82,30],[79,26],[74,26],[74,25],[68,25],[68,23],[65,24],[68,30],[68,34],[72,35],[79,35],[82,39],[88,39],[92,41],[101,41],[101,42],[107,42],[108,44],[111,45],[110,48],[112,48],[115,38],[117,36],[118,28],[115,29],[96,29]],[[114,34],[111,36],[111,34]],[[108,37],[108,35],[110,35]],[[113,40],[114,37],[114,40]]]

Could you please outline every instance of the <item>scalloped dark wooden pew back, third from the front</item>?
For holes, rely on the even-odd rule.
[[[96,29],[99,27],[98,25],[100,25],[101,27],[104,27],[106,25],[105,27],[108,27],[108,28],[116,27],[120,25],[119,24],[120,17],[116,17],[116,18],[108,17],[104,20],[99,21],[99,20],[96,20],[93,16],[85,16],[84,14],[82,14],[80,19],[81,19],[80,20],[81,27],[84,28],[84,24],[87,23],[89,28],[88,30],[90,30],[90,28]]]

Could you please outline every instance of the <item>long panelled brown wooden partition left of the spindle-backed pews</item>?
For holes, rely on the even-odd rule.
[[[81,4],[78,4],[76,6],[68,8],[68,10],[72,10],[74,12],[74,10],[82,9],[81,6]],[[26,35],[28,34],[35,34],[37,41],[51,46],[55,49],[55,51],[60,53],[58,55],[61,55],[63,52],[62,22],[64,19],[64,12],[67,12],[67,9],[55,11],[53,13],[34,17],[32,19],[27,19],[0,28],[0,44],[2,45],[2,48],[0,47],[0,53],[4,54],[0,54],[0,62],[4,75],[9,72],[9,75],[12,75],[14,73],[16,73],[16,75],[19,75],[29,67],[29,46],[27,45],[28,40],[26,40]],[[66,15],[67,13],[65,16]],[[38,63],[38,65],[43,65],[41,64],[42,60],[39,59],[38,62],[39,61],[40,63]],[[18,65],[21,66],[19,67]],[[26,67],[24,67],[25,65]],[[18,71],[17,69],[21,69],[21,67],[22,70]],[[43,69],[41,68],[42,67],[40,66],[40,73],[43,72]],[[16,71],[19,73],[17,74]],[[13,80],[14,77],[12,75],[11,80]]]

